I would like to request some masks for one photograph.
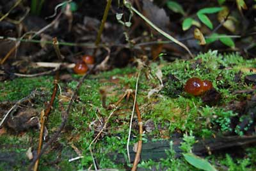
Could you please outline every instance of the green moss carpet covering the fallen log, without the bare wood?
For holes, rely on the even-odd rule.
[[[138,104],[140,106],[142,119],[154,121],[155,129],[143,135],[145,139],[155,138],[161,139],[172,137],[173,133],[193,132],[198,138],[211,137],[211,135],[223,135],[230,131],[230,117],[236,115],[231,110],[227,110],[225,106],[230,101],[246,98],[246,94],[234,94],[236,90],[250,88],[251,85],[245,84],[243,79],[247,75],[244,71],[241,75],[241,81],[234,82],[234,77],[239,70],[243,68],[253,68],[256,60],[245,60],[238,54],[219,55],[216,51],[200,54],[195,59],[189,61],[177,60],[173,63],[166,63],[161,60],[160,63],[150,64],[151,78],[145,77],[145,69],[140,76],[138,85]],[[148,91],[159,85],[156,77],[156,66],[163,66],[164,88],[159,93],[154,93],[150,98],[147,97]],[[223,69],[225,68],[225,69]],[[65,131],[58,138],[56,147],[52,151],[44,154],[40,162],[40,170],[78,170],[88,168],[92,165],[92,157],[88,149],[90,142],[97,134],[97,126],[100,126],[99,117],[104,121],[110,111],[102,107],[99,89],[106,89],[107,103],[115,103],[124,93],[125,89],[135,88],[136,84],[136,68],[115,69],[92,75],[85,80],[81,89],[79,89],[79,99],[72,106],[70,117]],[[177,78],[176,82],[168,80],[170,75]],[[81,76],[73,75],[74,80],[67,84],[60,83],[62,91],[67,89],[74,90],[77,85],[77,79]],[[114,78],[115,77],[115,78]],[[200,77],[202,80],[211,80],[213,86],[221,93],[221,101],[218,105],[212,107],[205,105],[200,97],[191,96],[184,93],[183,87],[186,80],[191,77]],[[16,101],[20,100],[34,89],[44,92],[44,96],[38,97],[35,101],[35,108],[40,111],[44,108],[44,101],[49,101],[52,91],[53,77],[37,77],[37,78],[15,78],[0,83],[0,101]],[[47,120],[47,128],[51,135],[61,123],[60,99],[54,103],[54,107]],[[67,105],[67,102],[63,103]],[[95,158],[100,168],[118,168],[124,169],[124,164],[116,164],[108,158],[108,153],[116,152],[126,155],[125,145],[127,142],[129,118],[132,111],[132,100],[125,103],[123,101],[120,110],[111,117],[107,128],[107,134],[100,137],[99,142],[94,145]],[[99,128],[98,128],[99,129]],[[164,131],[163,131],[164,130]],[[240,132],[241,133],[241,132]],[[132,135],[137,135],[136,128],[132,129]],[[243,134],[243,131],[242,131]],[[38,142],[38,130],[31,129],[26,131],[24,135],[8,132],[1,135],[0,144],[1,151],[18,151],[22,153],[25,163],[17,162],[13,169],[20,170],[29,163],[24,156],[29,147],[36,149]],[[131,144],[136,142],[136,137],[132,137]],[[17,146],[17,144],[21,146]],[[79,149],[84,158],[69,163],[69,158],[77,156],[72,146]],[[230,170],[254,170],[255,169],[255,148],[248,150],[246,158],[230,158],[230,156],[209,156],[208,159],[218,161]],[[21,154],[20,154],[21,155]],[[196,170],[191,167],[182,158],[174,160],[172,158],[173,151],[169,152],[169,158],[162,160],[162,167],[175,168],[173,170]],[[55,162],[60,158],[60,162]],[[54,163],[54,164],[52,164]],[[139,167],[152,168],[159,163],[154,161],[141,161]],[[0,168],[6,168],[0,164]],[[175,166],[175,167],[172,167]],[[172,170],[172,169],[171,169]]]

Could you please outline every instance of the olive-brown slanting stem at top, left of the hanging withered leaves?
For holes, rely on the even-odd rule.
[[[98,31],[98,34],[97,34],[97,38],[96,38],[96,41],[95,41],[95,46],[98,47],[99,43],[100,43],[100,36],[102,34],[102,31],[104,29],[104,25],[105,25],[105,22],[107,20],[107,17],[108,17],[108,11],[109,11],[109,8],[111,6],[111,2],[112,0],[108,0],[108,3],[106,4],[106,8],[104,10],[104,14],[103,14],[103,17],[102,17],[102,20],[101,20],[101,23],[100,23],[100,29]],[[95,48],[94,52],[93,52],[93,56],[96,55],[97,53],[97,50],[98,48]]]

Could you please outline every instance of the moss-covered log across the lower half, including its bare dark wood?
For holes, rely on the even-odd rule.
[[[130,165],[127,163],[126,145],[133,100],[123,100],[108,120],[112,110],[103,107],[100,92],[106,91],[106,105],[109,105],[116,103],[127,89],[132,89],[137,92],[136,101],[143,121],[143,150],[139,170],[164,170],[172,167],[178,170],[196,170],[184,158],[180,158],[180,155],[189,152],[193,145],[218,140],[218,137],[221,138],[215,142],[217,147],[209,147],[207,151],[205,144],[201,144],[202,147],[196,146],[195,154],[206,157],[218,170],[255,170],[255,89],[246,78],[252,74],[250,68],[255,64],[255,59],[244,60],[238,54],[221,55],[217,51],[210,51],[193,60],[177,60],[173,63],[160,60],[150,63],[140,69],[139,77],[138,68],[131,66],[90,75],[78,91],[65,129],[42,156],[39,168],[77,170],[92,167],[89,145],[102,129],[102,124],[108,122],[99,140],[92,146],[97,166],[127,169]],[[63,73],[60,77],[61,89],[58,90],[46,124],[49,135],[60,126],[61,110],[67,107],[81,77],[68,73]],[[202,96],[184,92],[186,80],[191,77],[211,80],[214,90]],[[29,148],[36,150],[39,137],[37,124],[29,121],[31,117],[40,117],[45,101],[50,100],[53,80],[54,76],[42,76],[15,78],[0,83],[1,117],[15,101],[28,96],[31,91],[37,92],[35,97],[17,109],[14,114],[15,117],[20,117],[15,120],[17,123],[8,122],[7,128],[1,129],[2,170],[19,170],[28,166],[26,154],[28,155]],[[223,142],[225,138],[234,139]],[[134,114],[130,145],[133,146],[136,142],[138,118]],[[152,149],[147,150],[150,142],[153,142]],[[173,149],[170,142],[173,142]],[[132,149],[130,153],[134,156]],[[77,156],[83,158],[68,161]]]

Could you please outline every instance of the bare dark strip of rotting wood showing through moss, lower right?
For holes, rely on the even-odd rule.
[[[156,142],[148,141],[147,143],[143,143],[142,151],[141,151],[141,160],[153,160],[159,161],[161,158],[167,158],[166,150],[170,149],[170,141],[173,141],[173,150],[175,151],[175,157],[179,158],[182,156],[182,150],[180,147],[180,142],[182,142],[182,138],[171,138],[169,140],[160,140]],[[221,152],[223,150],[237,148],[241,149],[247,145],[253,145],[256,143],[256,136],[231,136],[231,137],[217,137],[217,138],[209,138],[207,140],[199,140],[195,145],[193,145],[193,153],[198,156],[205,156],[209,152]],[[132,145],[130,145],[130,155],[131,161],[134,161],[134,157],[136,152],[132,151]],[[232,150],[234,151],[234,149]],[[232,152],[230,151],[230,152]],[[109,154],[110,158],[115,156],[116,163],[125,163],[124,154],[112,153]]]

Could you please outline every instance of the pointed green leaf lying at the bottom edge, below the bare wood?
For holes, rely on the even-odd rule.
[[[193,167],[206,171],[217,171],[207,160],[204,160],[193,153],[186,153],[183,154],[183,156],[190,165],[193,165]]]

